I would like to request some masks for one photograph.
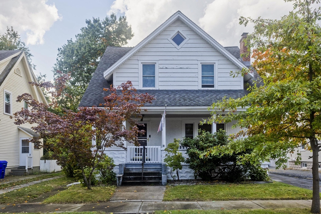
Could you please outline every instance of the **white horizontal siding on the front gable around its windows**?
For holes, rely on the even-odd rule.
[[[183,31],[189,40],[177,49],[168,38],[177,29]],[[182,21],[177,20],[146,44],[134,56],[120,65],[113,73],[114,85],[125,81],[132,81],[135,88],[139,88],[139,61],[158,61],[159,89],[198,89],[199,61],[217,61],[218,74],[216,89],[243,89],[243,77],[233,78],[230,71],[240,69],[225,56],[198,36]]]

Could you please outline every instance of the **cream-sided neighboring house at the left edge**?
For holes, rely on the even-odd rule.
[[[16,102],[23,93],[29,93],[40,102],[48,104],[39,87],[29,82],[36,82],[36,76],[28,63],[26,54],[21,50],[0,51],[0,160],[8,161],[6,174],[25,175],[39,170],[43,149],[39,149],[27,139],[39,135],[31,130],[34,124],[17,126],[10,116],[22,108],[29,108],[28,103]],[[29,170],[29,171],[28,171]],[[27,172],[28,171],[28,172]]]

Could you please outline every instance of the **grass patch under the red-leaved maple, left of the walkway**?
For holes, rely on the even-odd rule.
[[[87,187],[74,185],[67,190],[47,198],[43,203],[96,203],[109,201],[114,194],[115,186],[93,186],[91,190]]]

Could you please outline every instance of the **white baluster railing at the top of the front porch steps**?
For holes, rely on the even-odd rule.
[[[145,163],[161,163],[160,146],[145,146]],[[127,163],[141,163],[143,146],[127,146]]]

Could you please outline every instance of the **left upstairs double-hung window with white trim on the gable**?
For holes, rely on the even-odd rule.
[[[139,64],[139,89],[158,89],[157,61],[140,61]]]

